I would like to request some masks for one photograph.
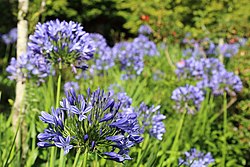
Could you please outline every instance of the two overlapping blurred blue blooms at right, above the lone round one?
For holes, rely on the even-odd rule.
[[[176,73],[182,78],[199,80],[197,87],[203,90],[210,88],[215,95],[221,95],[224,91],[235,95],[243,87],[239,76],[228,72],[217,58],[190,57],[177,63]]]

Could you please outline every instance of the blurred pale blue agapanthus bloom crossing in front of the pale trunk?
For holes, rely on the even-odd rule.
[[[17,59],[12,57],[6,71],[10,74],[8,78],[11,80],[25,81],[37,78],[38,83],[54,74],[51,63],[42,55],[33,52],[22,54]]]

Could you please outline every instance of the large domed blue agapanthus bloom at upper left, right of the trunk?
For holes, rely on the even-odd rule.
[[[95,52],[89,34],[73,21],[38,23],[29,40],[30,51],[45,56],[51,63],[68,64],[75,73],[76,68],[87,68],[85,61]]]

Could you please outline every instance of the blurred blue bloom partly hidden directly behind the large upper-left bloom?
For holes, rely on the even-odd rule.
[[[112,54],[112,48],[107,45],[106,39],[97,33],[91,33],[89,37],[94,41],[96,48],[94,64],[90,67],[90,71],[104,71],[113,67],[115,65],[115,57]]]

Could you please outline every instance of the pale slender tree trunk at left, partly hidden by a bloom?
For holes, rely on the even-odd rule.
[[[17,58],[25,54],[27,51],[27,41],[28,41],[28,21],[26,16],[28,13],[28,4],[29,0],[18,0],[18,23],[17,23]],[[23,107],[24,107],[24,96],[25,96],[25,83],[22,81],[17,81],[16,83],[16,98],[13,105],[13,116],[12,116],[12,125],[14,131],[17,131],[18,125],[19,132],[16,138],[16,146],[20,148],[20,143],[22,142],[22,132],[25,132],[23,121],[21,118]],[[24,146],[24,145],[22,145]],[[25,150],[27,147],[21,148],[21,155],[25,155]],[[23,154],[24,153],[24,154]]]

